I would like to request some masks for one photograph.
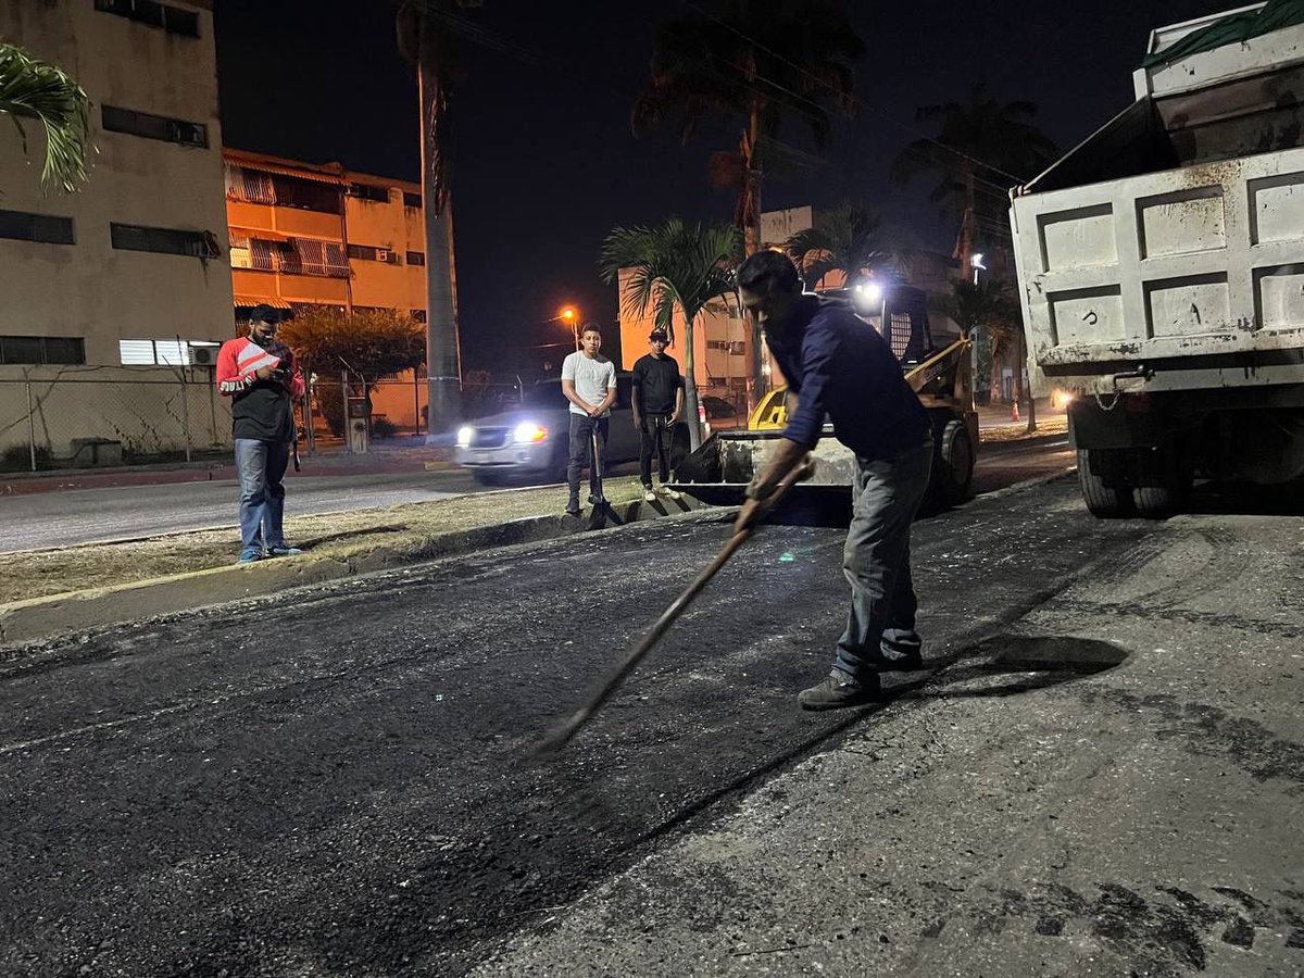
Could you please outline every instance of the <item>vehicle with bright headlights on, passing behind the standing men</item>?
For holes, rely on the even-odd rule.
[[[674,433],[674,455],[689,449],[689,429]],[[520,407],[477,419],[458,430],[454,460],[481,485],[559,482],[566,479],[570,451],[570,402],[559,379],[527,387]],[[608,466],[636,462],[639,433],[630,408],[630,374],[615,376],[615,404],[606,442]]]

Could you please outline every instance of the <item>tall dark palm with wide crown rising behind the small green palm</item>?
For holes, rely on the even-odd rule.
[[[634,102],[642,134],[677,119],[685,142],[708,117],[741,120],[737,153],[716,153],[711,179],[738,193],[734,223],[745,252],[760,241],[760,190],[769,158],[785,151],[785,119],[829,143],[829,108],[855,110],[855,63],[865,55],[841,0],[715,0],[713,12],[672,17],[657,29],[652,77]],[[789,151],[789,155],[793,155]],[[760,329],[752,325],[751,373],[763,390]]]

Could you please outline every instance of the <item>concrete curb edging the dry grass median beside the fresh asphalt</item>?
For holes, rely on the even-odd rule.
[[[608,512],[588,511],[578,520],[562,515],[526,516],[507,523],[415,537],[399,544],[334,557],[306,553],[303,557],[186,571],[129,584],[10,601],[0,605],[0,645],[50,639],[65,632],[262,597],[291,588],[323,584],[476,550],[554,540],[625,523],[677,516],[703,507],[703,503],[689,496],[678,502],[636,501],[612,506]]]

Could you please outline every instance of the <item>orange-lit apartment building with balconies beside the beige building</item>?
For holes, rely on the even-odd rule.
[[[421,186],[244,150],[223,150],[235,318],[334,305],[398,309],[424,322]],[[373,416],[416,430],[428,399],[407,372],[372,393]]]

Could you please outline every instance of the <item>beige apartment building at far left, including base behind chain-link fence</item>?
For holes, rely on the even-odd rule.
[[[78,193],[46,194],[40,126],[26,155],[0,130],[0,452],[228,442],[189,369],[231,335],[210,0],[0,3],[0,38],[77,78],[96,146]]]

